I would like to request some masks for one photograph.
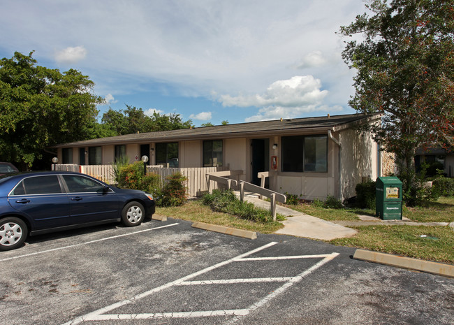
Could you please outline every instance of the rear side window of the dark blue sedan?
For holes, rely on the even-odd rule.
[[[61,193],[57,175],[25,178],[17,185],[12,195]]]

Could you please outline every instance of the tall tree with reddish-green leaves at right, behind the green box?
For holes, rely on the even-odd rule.
[[[340,34],[342,57],[356,94],[349,105],[361,113],[383,113],[372,126],[383,149],[394,152],[410,198],[415,197],[416,147],[454,145],[454,1],[367,0]]]

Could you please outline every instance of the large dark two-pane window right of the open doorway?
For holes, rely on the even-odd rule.
[[[282,171],[328,171],[328,136],[283,136]]]

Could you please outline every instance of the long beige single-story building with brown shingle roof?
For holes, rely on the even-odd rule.
[[[382,175],[381,152],[367,131],[380,114],[352,114],[135,133],[55,145],[59,163],[110,164],[125,154],[130,161],[199,168],[241,170],[240,180],[313,200],[355,196],[355,187]]]

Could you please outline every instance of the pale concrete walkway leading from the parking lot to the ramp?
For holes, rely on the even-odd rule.
[[[256,197],[245,196],[244,200],[254,203],[254,205],[260,208],[270,208],[270,202],[263,201]],[[287,219],[282,222],[284,228],[275,232],[282,235],[332,240],[335,238],[351,237],[356,234],[356,230],[354,229],[323,219],[318,219],[312,217],[312,215],[306,215],[305,213],[291,210],[281,205],[277,205],[276,212],[287,217]]]

